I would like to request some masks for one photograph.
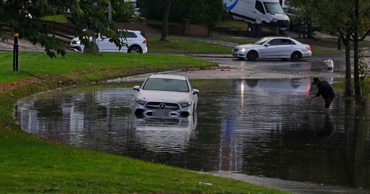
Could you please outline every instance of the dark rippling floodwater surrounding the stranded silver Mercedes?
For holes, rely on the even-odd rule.
[[[191,170],[370,188],[369,112],[340,97],[332,113],[313,99],[310,78],[192,81],[196,115],[136,118],[141,83],[80,86],[17,103],[34,135]],[[339,92],[338,92],[339,93]]]

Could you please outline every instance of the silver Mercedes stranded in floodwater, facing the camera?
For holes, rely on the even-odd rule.
[[[191,87],[185,76],[150,75],[141,88],[134,86],[134,90],[138,91],[134,102],[136,115],[188,116],[195,112],[198,103],[199,91]]]

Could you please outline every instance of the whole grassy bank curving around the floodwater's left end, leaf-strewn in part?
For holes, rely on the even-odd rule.
[[[19,58],[21,71],[12,73],[11,55],[9,52],[0,52],[0,78],[3,83],[0,85],[0,193],[284,193],[240,181],[49,142],[22,132],[12,117],[13,104],[34,93],[121,76],[203,67],[213,63],[155,54],[68,53],[65,59],[50,59],[44,53],[21,52]],[[199,184],[199,181],[212,185]]]

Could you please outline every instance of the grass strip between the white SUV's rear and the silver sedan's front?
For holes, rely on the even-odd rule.
[[[146,36],[149,52],[160,52],[166,54],[230,54],[232,47],[209,44],[196,40],[187,40],[180,37],[169,36],[169,41],[159,41],[159,36]]]

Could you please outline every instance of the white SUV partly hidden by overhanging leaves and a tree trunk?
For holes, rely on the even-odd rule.
[[[148,52],[147,40],[140,34],[140,31],[127,30],[127,41],[123,38],[122,40],[128,44],[128,48],[123,46],[121,50],[113,43],[109,42],[110,38],[98,37],[96,43],[99,48],[99,52],[131,52],[131,53],[146,53]],[[122,36],[124,30],[121,30]],[[92,37],[90,37],[91,40]],[[73,38],[70,44],[70,49],[76,52],[84,52],[84,45],[80,44],[80,39],[78,37]]]

